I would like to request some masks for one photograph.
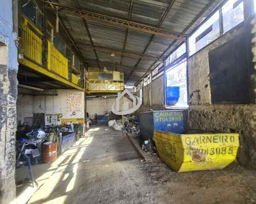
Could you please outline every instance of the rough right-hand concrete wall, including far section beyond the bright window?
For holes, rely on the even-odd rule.
[[[253,24],[253,62],[256,63],[256,19],[253,21]],[[239,35],[243,35],[246,39],[248,38],[248,41],[251,41],[250,32],[251,28],[247,25],[246,27],[237,27],[219,37],[193,56],[190,56],[188,60],[190,108],[188,113],[185,112],[185,117],[188,120],[186,125],[188,125],[187,128],[189,129],[239,133],[240,150],[238,152],[238,161],[241,165],[256,169],[256,68],[254,71],[251,70],[251,56],[248,53],[248,69],[250,69],[248,72],[251,75],[251,78],[248,78],[248,80],[251,80],[251,87],[248,89],[248,92],[250,92],[250,96],[254,94],[254,99],[251,100],[253,104],[244,105],[212,104],[208,58],[208,53],[211,50],[218,48],[227,41],[236,39]],[[250,44],[249,47],[251,47]],[[244,52],[247,53],[247,50],[244,50]],[[136,95],[139,96],[139,91]],[[143,87],[143,105],[141,105],[137,114],[147,112],[149,109],[165,109],[163,75],[151,84]]]

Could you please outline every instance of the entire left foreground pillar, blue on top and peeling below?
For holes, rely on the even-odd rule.
[[[14,1],[16,3],[16,1]],[[17,33],[12,1],[0,6],[0,203],[15,203],[15,132],[17,97]],[[14,6],[15,7],[15,6]],[[16,16],[16,12],[14,12]]]

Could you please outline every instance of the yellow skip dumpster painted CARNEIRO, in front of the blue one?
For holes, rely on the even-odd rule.
[[[162,161],[176,172],[223,169],[236,159],[239,134],[175,134],[154,131]]]

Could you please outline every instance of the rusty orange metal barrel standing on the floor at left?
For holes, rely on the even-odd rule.
[[[44,163],[52,163],[57,159],[57,143],[47,141],[43,143],[43,160]]]

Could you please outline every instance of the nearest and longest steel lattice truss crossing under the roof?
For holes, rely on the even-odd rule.
[[[48,3],[48,5],[47,5],[47,3]],[[137,22],[124,20],[122,18],[115,18],[112,16],[106,16],[106,15],[97,14],[94,12],[88,12],[86,10],[79,10],[78,8],[63,6],[59,3],[52,3],[50,1],[46,1],[46,8],[53,9],[53,7],[55,7],[55,8],[58,7],[58,12],[60,14],[66,14],[66,15],[76,16],[76,17],[79,16],[81,18],[109,24],[114,27],[122,27],[125,29],[132,29],[134,31],[139,31],[142,33],[150,33],[152,35],[166,37],[169,39],[177,39],[180,41],[183,41],[184,39],[186,39],[186,36],[181,35],[180,33],[174,33],[174,32],[166,31],[164,29],[159,29],[156,27],[150,27],[145,24],[140,24]]]

